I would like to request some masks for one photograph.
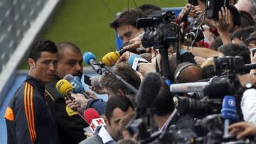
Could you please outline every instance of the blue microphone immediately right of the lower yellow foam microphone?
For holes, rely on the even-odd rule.
[[[75,94],[83,94],[86,99],[90,99],[90,96],[85,93],[85,88],[82,86],[79,77],[73,77],[71,74],[66,74],[63,79],[66,79],[68,82],[70,82]]]

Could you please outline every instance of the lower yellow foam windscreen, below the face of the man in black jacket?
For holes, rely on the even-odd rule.
[[[56,83],[56,89],[60,94],[65,94],[65,95],[68,95],[69,91],[73,91],[73,88],[70,82],[68,82],[66,79],[60,79]]]

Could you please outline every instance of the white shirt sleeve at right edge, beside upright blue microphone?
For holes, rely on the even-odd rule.
[[[241,109],[244,120],[256,124],[256,89],[247,89],[242,94]]]

